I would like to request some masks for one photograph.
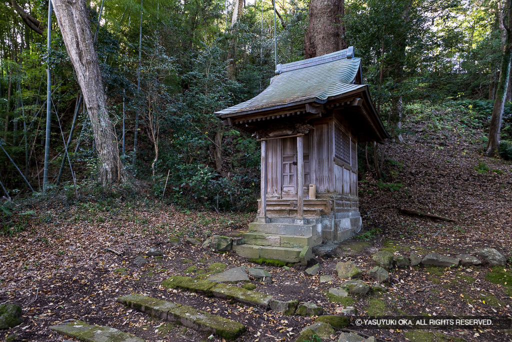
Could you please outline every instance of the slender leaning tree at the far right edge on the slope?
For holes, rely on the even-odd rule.
[[[503,19],[503,26],[506,31],[503,55],[501,56],[500,78],[496,87],[493,115],[490,117],[489,141],[487,142],[487,155],[497,156],[500,150],[500,130],[507,95],[508,79],[510,77],[510,63],[512,61],[512,0],[506,0],[505,10],[507,11],[508,24]]]

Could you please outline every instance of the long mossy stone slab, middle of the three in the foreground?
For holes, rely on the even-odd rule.
[[[178,321],[194,330],[213,333],[227,340],[236,339],[245,331],[245,327],[237,321],[157,298],[132,294],[117,298],[117,302],[161,319]]]

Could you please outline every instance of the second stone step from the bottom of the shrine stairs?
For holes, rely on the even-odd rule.
[[[280,235],[265,233],[245,233],[244,243],[247,245],[276,246],[288,248],[314,247],[322,243],[322,235]]]

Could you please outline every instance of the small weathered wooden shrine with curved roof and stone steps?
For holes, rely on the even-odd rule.
[[[353,47],[275,73],[258,96],[216,115],[261,141],[258,216],[237,253],[295,263],[360,230],[357,144],[390,136]]]

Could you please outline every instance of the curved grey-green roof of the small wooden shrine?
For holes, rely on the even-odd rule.
[[[215,114],[242,114],[303,101],[326,103],[329,97],[366,87],[353,84],[360,64],[361,58],[347,58],[346,50],[342,50],[305,61],[279,65],[278,71],[282,73],[272,77],[267,89],[250,100]]]

